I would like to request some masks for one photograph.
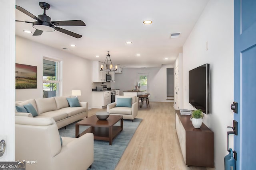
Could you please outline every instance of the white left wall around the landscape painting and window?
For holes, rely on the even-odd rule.
[[[81,90],[82,96],[78,99],[88,102],[88,107],[92,108],[92,61],[18,36],[16,63],[37,66],[37,88],[16,89],[16,101],[43,97],[43,57],[63,61],[62,96],[70,96],[71,90]]]

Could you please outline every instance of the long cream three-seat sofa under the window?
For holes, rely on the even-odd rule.
[[[17,101],[16,106],[32,104],[38,113],[38,116],[35,116],[35,118],[51,117],[56,121],[58,129],[60,129],[88,116],[87,102],[79,102],[80,107],[69,107],[66,98],[70,98],[70,96]],[[17,112],[17,110],[15,115],[33,117],[31,113]]]

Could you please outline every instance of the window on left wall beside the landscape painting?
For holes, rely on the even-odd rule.
[[[43,98],[59,96],[60,94],[60,61],[44,58]]]

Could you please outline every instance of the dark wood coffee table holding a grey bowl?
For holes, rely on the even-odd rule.
[[[120,126],[114,126],[120,121]],[[79,126],[90,126],[84,132],[79,134]],[[86,134],[93,133],[94,139],[101,141],[109,141],[109,145],[112,145],[112,141],[116,135],[123,130],[123,116],[109,115],[106,120],[99,120],[96,115],[84,118],[76,123],[76,138]]]

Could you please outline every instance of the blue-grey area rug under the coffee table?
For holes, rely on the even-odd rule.
[[[92,168],[88,170],[114,170],[118,164],[124,150],[128,146],[128,143],[132,139],[136,129],[140,125],[142,119],[124,120],[123,131],[114,138],[112,146],[108,141],[94,140],[94,162]],[[120,125],[120,122],[118,122]],[[59,129],[60,136],[63,137],[75,137],[75,124],[72,123]],[[88,127],[80,126],[80,133],[82,133]]]

